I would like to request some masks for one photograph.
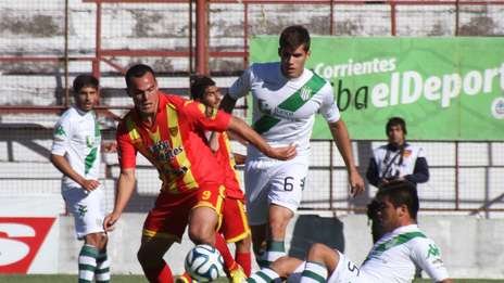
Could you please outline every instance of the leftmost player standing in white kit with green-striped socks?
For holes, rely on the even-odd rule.
[[[101,134],[93,111],[99,81],[79,75],[73,88],[75,105],[55,125],[51,163],[64,175],[61,192],[74,216],[77,239],[85,241],[78,257],[78,282],[109,282],[108,237],[102,227],[104,192],[98,181]]]

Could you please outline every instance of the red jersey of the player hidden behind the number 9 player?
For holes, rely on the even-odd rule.
[[[226,132],[218,134],[218,151],[215,153],[215,156],[226,173],[226,180],[224,182],[226,195],[232,198],[243,200],[243,192],[240,189],[240,177],[235,169],[235,156],[231,153],[229,138]]]

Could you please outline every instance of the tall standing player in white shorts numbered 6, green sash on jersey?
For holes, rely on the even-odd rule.
[[[244,168],[247,208],[253,247],[261,266],[286,254],[286,228],[298,209],[306,183],[315,114],[320,113],[329,125],[345,163],[352,193],[364,190],[332,87],[304,67],[310,56],[308,31],[302,26],[284,29],[278,54],[280,62],[250,66],[230,87],[220,104],[230,112],[236,101],[250,91],[254,102],[253,128],[274,146],[298,146],[298,156],[288,162],[268,158],[253,146],[248,149]]]

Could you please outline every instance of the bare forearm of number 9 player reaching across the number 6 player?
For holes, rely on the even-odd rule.
[[[264,153],[266,156],[287,160],[295,156],[297,151],[294,145],[284,147],[272,147],[269,144],[255,132],[247,123],[237,117],[231,117],[229,121],[228,130],[241,136],[244,140],[253,144],[257,150]]]

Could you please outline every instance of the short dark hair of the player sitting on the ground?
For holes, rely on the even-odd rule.
[[[408,181],[393,181],[380,186],[376,197],[388,196],[394,207],[407,206],[407,211],[412,219],[416,219],[420,208],[418,194],[413,183]]]

